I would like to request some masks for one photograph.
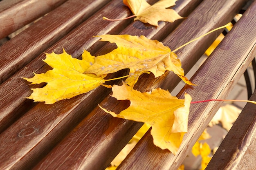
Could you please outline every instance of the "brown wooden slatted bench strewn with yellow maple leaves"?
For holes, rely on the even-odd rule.
[[[153,4],[156,1],[148,2]],[[33,1],[1,1],[0,7],[4,8],[0,8],[0,22],[9,23],[8,18],[13,17],[13,13],[31,9],[31,2]],[[72,57],[79,58],[83,49],[86,49],[97,56],[115,48],[112,44],[98,42],[99,38],[92,37],[102,34],[145,35],[152,40],[162,41],[170,49],[176,49],[230,22],[245,2],[246,0],[178,0],[173,9],[187,18],[174,23],[159,22],[157,29],[139,21],[133,22],[132,19],[117,22],[102,20],[103,16],[125,18],[131,15],[121,0],[56,0],[49,5],[48,10],[36,5],[34,11],[38,11],[38,14],[28,11],[28,15],[36,15],[35,18],[38,18],[45,11],[50,12],[0,46],[0,169],[104,170],[142,126],[139,122],[113,118],[101,110],[98,104],[112,108],[112,111],[120,111],[128,106],[128,102],[118,104],[117,100],[108,95],[110,89],[102,86],[51,105],[26,99],[31,93],[30,88],[43,84],[29,86],[20,77],[32,77],[33,71],[45,73],[51,69],[42,61],[45,58],[43,52],[62,53],[64,48]],[[60,6],[56,7],[58,5]],[[1,15],[9,17],[1,20]],[[20,16],[16,15],[14,18]],[[25,25],[27,22],[20,20],[16,24]],[[12,26],[9,27],[6,30],[15,30]],[[18,29],[18,26],[15,28]],[[6,33],[3,32],[0,35],[4,37]],[[211,33],[177,51],[185,73],[220,33],[221,30]],[[256,55],[255,33],[256,2],[250,5],[220,46],[191,78],[192,82],[200,86],[185,86],[177,97],[181,98],[186,91],[194,101],[225,99]],[[117,75],[121,76],[126,72],[119,72]],[[180,78],[172,72],[166,72],[158,78],[144,74],[139,78],[135,89],[150,91],[161,87],[172,91],[179,81]],[[120,84],[121,80],[114,83]],[[255,94],[252,99],[255,100]],[[118,169],[176,170],[220,105],[221,102],[191,105],[189,132],[185,135],[177,155],[154,146],[148,131]],[[220,155],[225,150],[229,155],[222,153],[221,160],[214,156],[208,169],[218,169],[220,161],[220,167],[231,167],[228,165],[234,159],[227,157],[237,153],[241,158],[246,155],[246,148],[253,146],[255,149],[255,142],[254,145],[249,145],[255,140],[255,111],[255,105],[248,104],[245,107],[238,123],[232,128],[235,130],[231,129],[231,135],[227,135],[227,139],[223,141],[223,148],[220,146],[216,152],[216,155]],[[252,119],[245,121],[244,114],[248,113]],[[248,122],[250,126],[241,126],[243,122]],[[239,134],[232,132],[237,131],[236,127],[243,127],[243,130]],[[252,135],[246,135],[248,132]],[[231,141],[234,134],[237,137],[236,144]],[[246,147],[243,147],[244,143]],[[232,150],[228,150],[228,147]]]

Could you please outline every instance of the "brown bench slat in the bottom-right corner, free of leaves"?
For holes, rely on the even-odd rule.
[[[256,93],[250,97],[256,101]],[[248,103],[205,170],[256,169],[256,105]]]

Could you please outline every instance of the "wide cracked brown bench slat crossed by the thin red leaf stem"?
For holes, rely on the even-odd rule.
[[[189,93],[194,101],[225,99],[227,97],[227,94],[256,55],[255,12],[255,7],[247,10],[220,46],[191,78],[192,82],[200,84],[200,86],[185,86],[178,97],[181,97],[184,91]],[[185,47],[183,51],[186,52],[188,48]],[[189,49],[189,51],[192,51],[192,49]],[[186,61],[189,61],[189,59]],[[177,155],[154,146],[153,139],[148,131],[119,168],[122,170],[161,168],[176,170],[220,105],[221,102],[191,105],[189,132],[184,136]]]

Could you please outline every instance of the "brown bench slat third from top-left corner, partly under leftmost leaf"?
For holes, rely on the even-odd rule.
[[[114,9],[117,13],[112,12]],[[83,22],[83,24],[45,52],[52,53],[54,51],[55,53],[62,53],[62,48],[64,48],[73,57],[79,57],[83,49],[89,49],[92,44],[99,40],[99,38],[92,37],[93,35],[117,33],[132,21],[103,22],[102,15],[110,15],[113,18],[124,18],[130,15],[130,10],[119,0],[113,0],[108,6]],[[94,49],[97,50],[103,45],[99,43],[97,46],[94,46]],[[35,106],[33,101],[25,98],[30,95],[31,91],[28,86],[29,83],[21,79],[21,77],[32,77],[33,71],[35,73],[45,73],[51,69],[42,61],[42,58],[45,58],[44,53],[41,53],[31,63],[0,85],[0,132],[29,110],[29,108]]]

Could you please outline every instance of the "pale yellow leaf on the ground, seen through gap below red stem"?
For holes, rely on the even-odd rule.
[[[215,124],[221,123],[222,127],[225,128],[227,131],[230,130],[233,123],[236,121],[237,117],[241,113],[242,110],[239,108],[232,106],[230,104],[226,104],[225,106],[221,106],[220,109],[217,111],[209,126],[213,126]]]

